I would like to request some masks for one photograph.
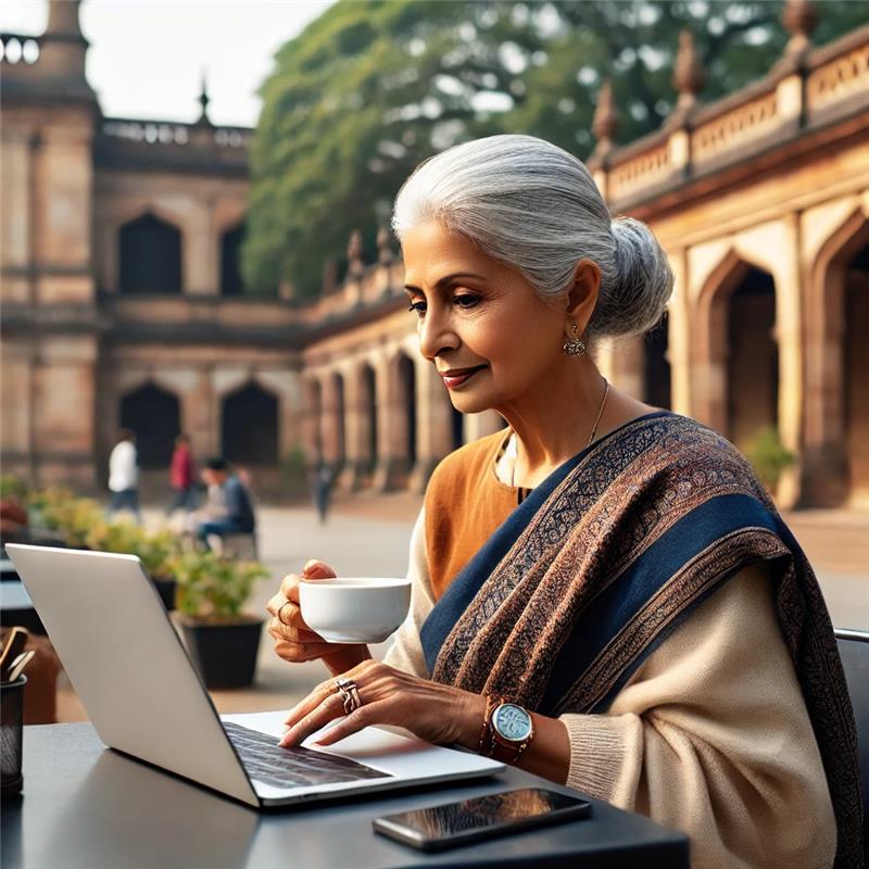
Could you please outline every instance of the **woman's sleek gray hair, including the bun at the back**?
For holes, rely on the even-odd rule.
[[[672,291],[652,230],[630,217],[610,219],[585,166],[533,136],[477,139],[417,166],[395,199],[392,228],[401,241],[430,219],[516,268],[544,299],[567,291],[580,260],[597,263],[590,338],[647,331]]]

